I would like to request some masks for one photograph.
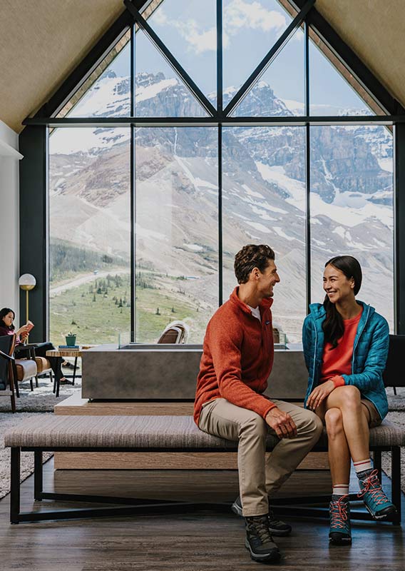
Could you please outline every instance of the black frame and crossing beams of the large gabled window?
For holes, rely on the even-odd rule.
[[[148,25],[143,14],[150,13],[150,8],[155,2],[155,7],[160,4],[159,0],[123,0],[125,10],[118,17],[111,28],[98,41],[88,56],[77,66],[66,79],[56,94],[41,107],[33,116],[23,121],[24,131],[20,136],[20,151],[24,154],[24,161],[20,165],[20,223],[21,223],[21,248],[20,268],[21,273],[30,272],[38,276],[38,287],[32,293],[33,301],[38,307],[34,310],[33,318],[36,320],[36,333],[46,338],[48,334],[48,128],[63,126],[130,126],[131,128],[131,156],[135,153],[135,127],[136,126],[215,126],[218,137],[218,271],[219,271],[219,304],[222,304],[222,126],[287,126],[297,125],[306,128],[306,263],[307,305],[311,298],[310,268],[311,268],[311,229],[310,229],[310,146],[309,132],[312,125],[384,125],[393,130],[394,135],[394,321],[396,333],[405,333],[405,228],[399,224],[405,216],[405,109],[396,101],[388,91],[375,78],[371,71],[364,66],[362,61],[342,41],[332,27],[324,20],[314,7],[315,0],[279,0],[286,7],[286,3],[293,12],[292,22],[287,26],[282,36],[270,48],[260,64],[245,81],[232,101],[222,108],[222,0],[217,0],[217,108],[208,101],[193,79],[187,74],[179,62],[170,53],[168,48]],[[295,11],[295,12],[294,12]],[[294,13],[296,14],[294,16]],[[282,47],[294,34],[298,27],[304,29],[304,74],[305,74],[305,100],[304,116],[292,117],[232,117],[230,113],[247,94],[257,79],[270,65]],[[135,76],[135,30],[143,29],[151,41],[163,54],[168,64],[172,66],[183,80],[188,89],[193,92],[200,102],[207,117],[203,118],[140,118],[135,117],[134,81]],[[97,66],[103,61],[113,46],[128,32],[131,31],[131,115],[125,118],[73,118],[58,117],[63,106],[77,93],[78,89],[91,76]],[[342,62],[349,74],[352,74],[364,92],[381,109],[381,114],[374,116],[311,116],[309,114],[309,38],[316,34],[324,42],[327,48]],[[34,182],[34,199],[32,177]],[[131,298],[135,298],[135,166],[131,161]],[[33,209],[36,221],[32,221]],[[27,240],[32,242],[35,233],[36,253],[29,254],[25,247]],[[41,268],[41,271],[38,271]],[[39,276],[40,273],[40,276]],[[21,299],[21,303],[22,299]],[[32,305],[32,304],[31,304]],[[131,303],[131,330],[135,331],[135,303]]]

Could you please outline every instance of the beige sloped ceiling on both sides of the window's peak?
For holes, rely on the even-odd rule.
[[[404,0],[317,0],[317,10],[405,106]],[[122,0],[1,0],[0,119],[46,103],[123,11]]]

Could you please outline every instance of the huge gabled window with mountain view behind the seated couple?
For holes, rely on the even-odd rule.
[[[392,135],[366,124],[383,113],[355,74],[288,0],[128,4],[132,29],[49,139],[58,342],[77,327],[83,343],[153,343],[185,320],[201,343],[246,243],[275,248],[275,325],[292,343],[337,253],[359,259],[363,299],[392,325]]]

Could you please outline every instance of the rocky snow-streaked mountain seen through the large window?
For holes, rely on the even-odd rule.
[[[139,116],[203,116],[177,79],[136,76]],[[235,91],[227,90],[225,104]],[[128,116],[127,78],[108,72],[72,116]],[[264,81],[235,110],[238,116],[292,115]],[[50,139],[51,236],[128,258],[130,146],[128,128],[86,128]],[[72,136],[73,135],[73,136]],[[277,308],[282,328],[299,338],[305,313],[305,128],[224,127],[222,235],[224,295],[235,283],[235,252],[249,241],[270,243],[282,268]],[[353,253],[379,287],[392,290],[391,136],[381,126],[311,129],[311,229],[314,299],[322,298],[324,261]],[[138,262],[188,276],[185,290],[212,310],[217,304],[217,129],[137,128],[135,236]],[[377,268],[377,269],[376,269]],[[374,301],[374,285],[364,296]],[[387,318],[391,293],[379,300]],[[363,297],[364,297],[363,296]],[[374,305],[377,305],[375,303]]]

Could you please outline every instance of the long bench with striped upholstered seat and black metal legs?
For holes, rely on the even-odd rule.
[[[106,497],[93,495],[61,494],[43,492],[42,453],[51,452],[164,452],[204,453],[235,452],[237,442],[224,440],[203,433],[190,415],[108,415],[108,416],[50,416],[29,418],[21,421],[5,434],[5,445],[11,448],[11,523],[65,520],[75,517],[96,517],[151,513],[162,510],[184,512],[188,510],[229,510],[229,503],[192,504],[170,500],[140,500],[137,498]],[[267,450],[278,443],[277,437],[269,434]],[[401,521],[401,446],[405,444],[405,430],[384,420],[380,426],[370,430],[370,450],[374,453],[374,467],[381,475],[381,452],[391,451],[391,498],[397,512],[388,521]],[[313,449],[327,450],[327,435],[324,434]],[[72,500],[110,504],[125,504],[125,507],[95,507],[47,512],[20,512],[20,455],[21,451],[34,452],[34,499]],[[329,496],[277,498],[272,502],[275,511],[295,516],[328,517],[327,508],[319,506]],[[356,495],[351,497],[356,500]],[[305,504],[312,504],[307,506]],[[369,520],[365,510],[352,510],[354,519]]]

